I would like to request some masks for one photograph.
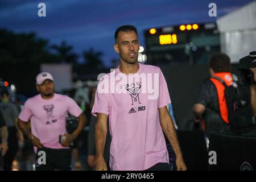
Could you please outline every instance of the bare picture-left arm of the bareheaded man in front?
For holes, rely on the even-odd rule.
[[[108,170],[104,159],[104,147],[106,142],[106,134],[108,131],[107,120],[108,115],[103,113],[97,113],[97,122],[95,127],[96,171]]]

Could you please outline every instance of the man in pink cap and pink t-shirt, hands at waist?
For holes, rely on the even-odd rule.
[[[86,123],[85,115],[72,98],[54,93],[53,77],[42,72],[36,77],[39,94],[29,98],[19,114],[18,127],[34,144],[36,170],[70,170],[70,144]],[[77,129],[67,134],[67,114],[79,118]],[[31,121],[31,131],[27,122]],[[65,137],[60,142],[60,136]]]

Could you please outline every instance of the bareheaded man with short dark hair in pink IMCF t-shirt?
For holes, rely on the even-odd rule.
[[[115,31],[121,65],[101,77],[92,114],[96,123],[96,170],[107,170],[103,153],[107,119],[112,137],[111,170],[170,170],[166,134],[178,170],[186,170],[167,105],[171,103],[160,68],[138,63],[139,40],[134,26]],[[164,134],[163,134],[164,132]]]

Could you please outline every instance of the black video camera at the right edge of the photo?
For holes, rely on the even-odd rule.
[[[240,71],[242,83],[245,85],[253,85],[255,83],[254,73],[250,68],[256,67],[256,51],[250,52],[248,56],[242,57],[239,60],[239,63],[245,67],[238,69],[238,71]]]

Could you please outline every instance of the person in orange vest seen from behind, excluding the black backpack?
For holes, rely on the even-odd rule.
[[[230,58],[225,53],[214,53],[210,56],[209,72],[211,76],[221,78],[228,86],[233,82]],[[205,79],[200,86],[193,113],[195,122],[204,120],[206,138],[213,132],[233,134],[230,125],[227,125],[228,110],[225,110],[224,89],[221,82],[213,78]]]

